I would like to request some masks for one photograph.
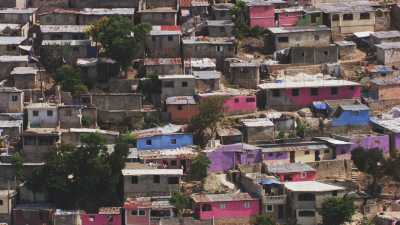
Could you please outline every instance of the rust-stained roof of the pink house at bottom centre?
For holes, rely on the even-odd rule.
[[[255,200],[248,193],[228,193],[228,194],[193,194],[192,199],[195,203],[207,202],[233,202]]]

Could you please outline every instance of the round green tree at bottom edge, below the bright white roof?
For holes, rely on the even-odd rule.
[[[320,214],[322,224],[341,225],[350,222],[356,209],[354,202],[349,198],[328,198],[322,203]]]

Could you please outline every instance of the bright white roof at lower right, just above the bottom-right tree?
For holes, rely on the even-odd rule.
[[[318,181],[285,182],[285,187],[293,192],[328,192],[343,191],[343,187],[326,184]]]

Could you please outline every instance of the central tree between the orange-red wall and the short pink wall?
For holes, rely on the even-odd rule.
[[[191,119],[190,128],[200,146],[205,146],[215,135],[218,123],[224,118],[224,101],[221,96],[208,97],[200,103],[199,114]]]

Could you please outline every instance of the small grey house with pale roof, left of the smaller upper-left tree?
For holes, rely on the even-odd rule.
[[[34,67],[15,67],[10,75],[16,88],[35,89],[39,87],[39,70]]]

